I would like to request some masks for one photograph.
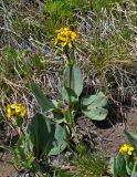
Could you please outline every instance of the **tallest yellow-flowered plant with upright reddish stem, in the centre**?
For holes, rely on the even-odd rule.
[[[31,84],[32,92],[43,112],[49,112],[49,117],[57,122],[66,131],[68,139],[77,139],[75,133],[75,116],[77,113],[85,114],[88,118],[102,121],[108,113],[107,98],[99,92],[95,95],[82,96],[83,76],[75,60],[75,42],[77,32],[71,28],[56,30],[55,44],[62,46],[62,54],[66,56],[64,67],[64,81],[62,87],[62,98],[65,104],[61,105],[56,101],[50,100],[40,87]],[[66,105],[66,106],[64,106]]]

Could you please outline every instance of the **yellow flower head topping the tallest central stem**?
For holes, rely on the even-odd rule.
[[[72,31],[68,27],[61,28],[55,31],[57,37],[55,38],[55,44],[61,44],[62,46],[67,45],[72,48],[72,43],[76,40],[76,32]]]

